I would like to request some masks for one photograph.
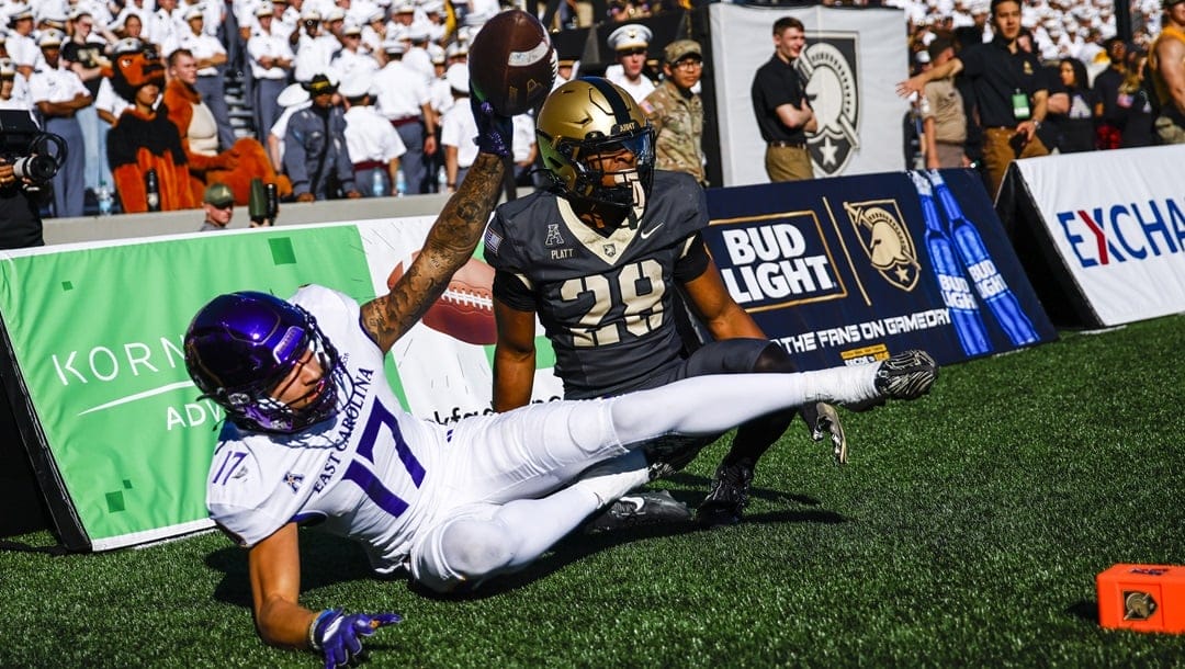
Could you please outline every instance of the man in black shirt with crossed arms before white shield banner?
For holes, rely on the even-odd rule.
[[[802,21],[782,17],[774,22],[774,57],[752,78],[752,111],[766,140],[766,173],[770,181],[813,179],[807,133],[819,128],[795,62],[807,44]]]

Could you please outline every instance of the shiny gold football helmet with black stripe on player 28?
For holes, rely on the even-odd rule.
[[[561,191],[616,207],[646,207],[654,181],[654,129],[616,84],[582,77],[559,86],[539,110],[536,135],[543,166]],[[603,160],[614,155],[616,161]]]

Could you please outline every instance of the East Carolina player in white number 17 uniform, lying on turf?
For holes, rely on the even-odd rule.
[[[318,285],[290,301],[222,295],[185,335],[190,375],[226,411],[207,508],[249,551],[256,628],[268,643],[322,652],[327,667],[399,617],[301,606],[301,525],[359,541],[378,571],[402,567],[442,592],[475,586],[529,565],[639,485],[633,449],[642,443],[719,432],[808,400],[912,399],[937,372],[910,352],[878,366],[688,379],[451,426],[408,414],[383,359],[470,257],[498,199],[512,129],[485,107],[476,162],[387,295],[361,305]]]

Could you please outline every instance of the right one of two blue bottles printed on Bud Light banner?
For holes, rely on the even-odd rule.
[[[963,216],[962,207],[959,206],[939,171],[931,169],[929,175],[934,184],[934,192],[939,197],[939,201],[942,202],[942,208],[946,210],[950,238],[955,243],[963,266],[967,268],[967,274],[971,275],[979,298],[987,304],[1013,345],[1020,346],[1037,341],[1037,330],[1033,329],[1032,321],[1020,308],[1020,301],[1008,288],[1004,276],[995,269],[995,263],[987,255],[984,238],[980,237],[975,224]]]

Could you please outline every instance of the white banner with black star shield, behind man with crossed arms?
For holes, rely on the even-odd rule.
[[[903,11],[713,2],[709,12],[724,186],[769,184],[750,90],[774,56],[774,21],[782,17],[806,26],[798,69],[819,120],[807,140],[815,176],[904,169],[909,105],[893,90],[909,73]]]

